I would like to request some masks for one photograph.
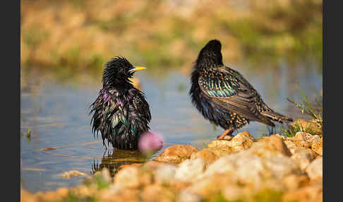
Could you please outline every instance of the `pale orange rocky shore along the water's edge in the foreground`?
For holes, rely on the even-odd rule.
[[[323,137],[298,132],[166,148],[155,160],[103,169],[71,189],[21,201],[323,201]]]

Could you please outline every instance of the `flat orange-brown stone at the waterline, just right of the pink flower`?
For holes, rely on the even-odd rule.
[[[180,163],[183,160],[191,158],[193,153],[197,153],[198,149],[192,145],[174,145],[166,148],[155,160],[160,162]]]

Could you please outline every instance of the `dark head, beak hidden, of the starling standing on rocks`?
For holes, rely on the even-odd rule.
[[[196,66],[198,67],[215,67],[222,66],[222,44],[219,40],[210,40],[205,47],[200,50],[198,59],[196,60]]]

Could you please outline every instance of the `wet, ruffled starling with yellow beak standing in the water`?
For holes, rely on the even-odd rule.
[[[144,94],[131,81],[133,73],[145,69],[124,57],[105,64],[102,89],[90,105],[92,133],[101,133],[102,143],[114,148],[136,150],[142,133],[150,129],[151,114]],[[105,145],[106,146],[106,145]]]

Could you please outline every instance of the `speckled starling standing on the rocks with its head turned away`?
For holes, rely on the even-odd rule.
[[[238,71],[224,66],[222,44],[211,40],[201,49],[191,74],[193,105],[215,125],[224,130],[218,139],[249,123],[259,121],[275,127],[272,121],[292,121],[265,105],[260,94]]]

